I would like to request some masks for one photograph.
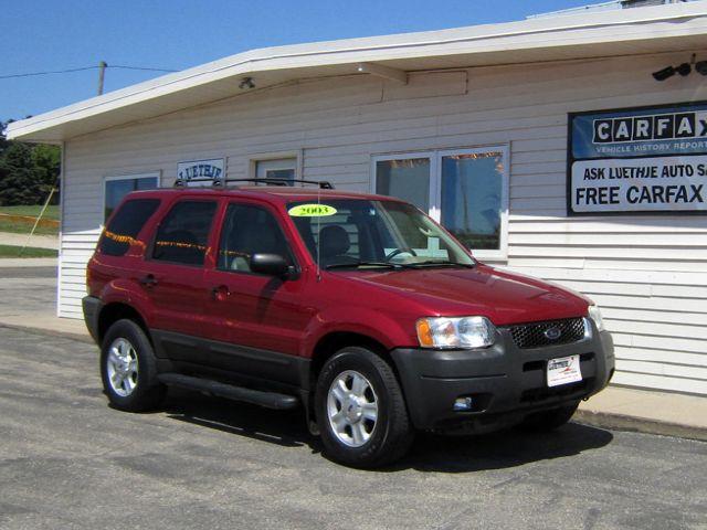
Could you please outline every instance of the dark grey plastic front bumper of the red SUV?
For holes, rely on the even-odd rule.
[[[399,348],[391,352],[416,428],[486,432],[518,423],[531,412],[550,410],[602,390],[614,371],[611,335],[590,332],[570,344],[519,349],[499,328],[494,346],[474,350]],[[582,381],[548,388],[547,361],[580,356]],[[469,411],[454,411],[457,398],[471,396]]]

